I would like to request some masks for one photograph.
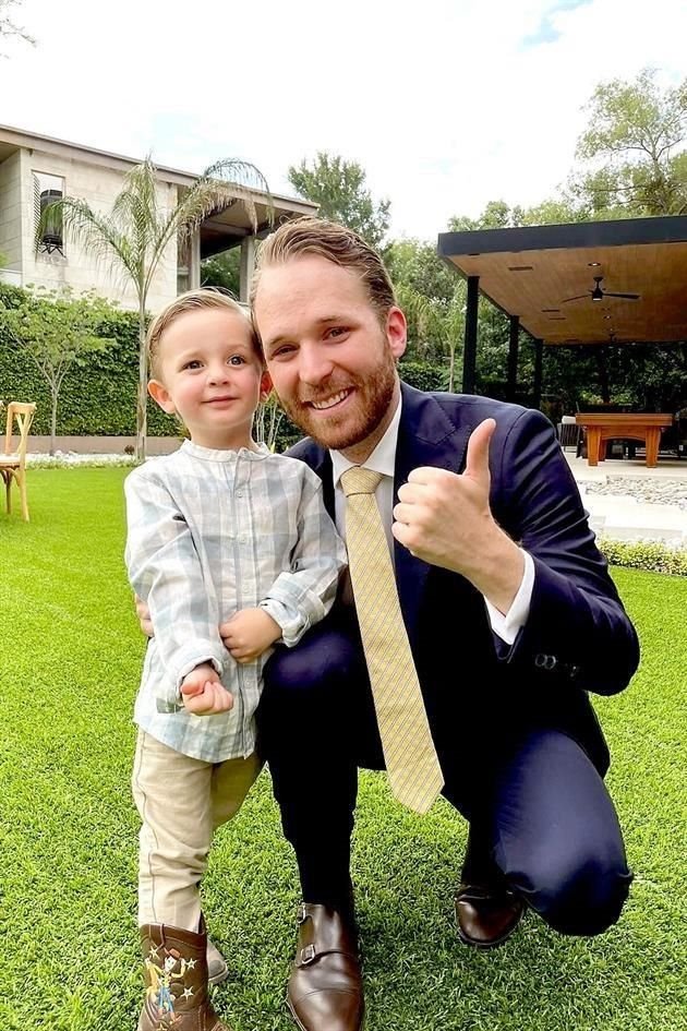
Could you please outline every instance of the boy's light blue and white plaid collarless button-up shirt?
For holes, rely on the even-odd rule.
[[[250,755],[272,649],[237,663],[218,627],[239,609],[261,607],[290,647],[329,611],[346,550],[320,478],[266,447],[215,451],[185,441],[134,469],[124,491],[129,578],[155,630],[134,720],[194,758]],[[181,681],[202,662],[233,695],[229,712],[200,717],[181,704]]]

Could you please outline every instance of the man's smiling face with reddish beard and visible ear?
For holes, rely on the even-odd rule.
[[[391,308],[382,325],[353,271],[303,255],[263,269],[254,315],[289,418],[325,447],[364,461],[396,407],[402,312]]]

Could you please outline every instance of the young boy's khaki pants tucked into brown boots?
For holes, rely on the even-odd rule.
[[[198,885],[213,832],[241,808],[262,767],[246,759],[203,763],[138,731],[132,776],[143,825],[138,855],[138,924],[197,931]]]

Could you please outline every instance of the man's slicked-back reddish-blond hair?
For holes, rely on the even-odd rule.
[[[261,245],[251,284],[251,308],[255,303],[264,268],[284,265],[293,257],[309,254],[357,273],[377,317],[381,322],[386,319],[389,308],[396,304],[396,297],[389,274],[377,252],[352,229],[310,215],[284,223]]]

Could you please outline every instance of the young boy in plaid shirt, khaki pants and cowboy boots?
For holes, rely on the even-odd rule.
[[[261,769],[263,667],[329,610],[345,551],[303,463],[252,440],[270,387],[243,309],[193,290],[153,322],[148,391],[185,424],[178,452],[126,479],[126,565],[150,610],[134,720],[141,814],[138,1031],[226,1031],[208,997],[198,883],[213,831]],[[219,624],[231,616],[229,650]],[[227,975],[210,943],[212,983]]]

